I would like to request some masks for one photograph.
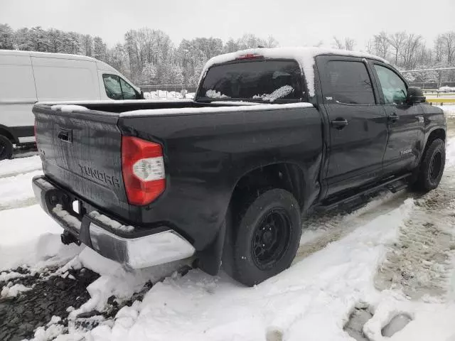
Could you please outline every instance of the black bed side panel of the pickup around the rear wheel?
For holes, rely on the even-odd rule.
[[[255,168],[296,163],[306,206],[319,194],[322,124],[314,108],[120,117],[119,128],[164,146],[167,188],[140,219],[168,222],[197,250],[213,241],[237,181]]]

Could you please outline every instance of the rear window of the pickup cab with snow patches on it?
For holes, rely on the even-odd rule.
[[[296,102],[302,97],[301,70],[293,60],[244,60],[210,67],[198,99]]]

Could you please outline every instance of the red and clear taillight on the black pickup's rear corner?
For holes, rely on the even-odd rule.
[[[147,205],[166,188],[161,145],[122,136],[122,173],[128,202]]]

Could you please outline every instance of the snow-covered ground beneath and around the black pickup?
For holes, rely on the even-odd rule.
[[[449,126],[453,108],[443,107]],[[68,311],[48,308],[60,315],[33,325],[35,340],[455,341],[454,137],[437,190],[382,193],[350,214],[311,217],[291,268],[254,288],[223,273],[177,271],[190,261],[127,271],[60,244],[60,227],[33,200],[40,168],[37,156],[0,161],[0,321],[5,302],[52,292],[52,278],[65,282],[58,300]],[[90,299],[77,293],[85,301],[75,304],[68,278],[84,276]]]

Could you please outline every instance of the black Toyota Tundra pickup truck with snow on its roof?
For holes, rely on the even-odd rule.
[[[254,49],[213,58],[193,101],[38,103],[62,241],[134,269],[195,256],[247,286],[287,269],[303,217],[380,188],[432,190],[446,123],[373,55]]]

